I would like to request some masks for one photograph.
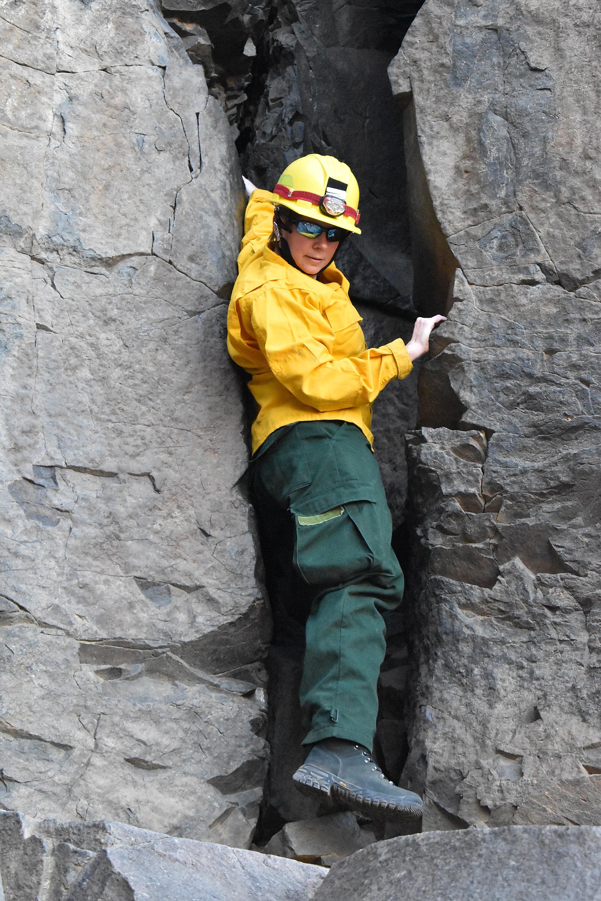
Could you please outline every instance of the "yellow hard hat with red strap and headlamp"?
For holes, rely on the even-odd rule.
[[[272,200],[315,222],[360,234],[359,185],[346,163],[309,153],[284,169]]]

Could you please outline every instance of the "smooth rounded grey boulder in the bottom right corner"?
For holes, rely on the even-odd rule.
[[[601,827],[407,835],[336,863],[314,901],[600,901]]]

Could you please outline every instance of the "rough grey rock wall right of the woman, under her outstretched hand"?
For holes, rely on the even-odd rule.
[[[408,442],[425,829],[600,822],[600,26],[430,0],[390,69],[415,298],[450,310]]]

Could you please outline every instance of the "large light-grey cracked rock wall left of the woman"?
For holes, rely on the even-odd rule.
[[[0,802],[250,842],[267,766],[240,168],[152,5],[0,22]]]

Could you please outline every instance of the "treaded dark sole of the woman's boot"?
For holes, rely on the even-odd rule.
[[[351,810],[369,816],[370,819],[388,820],[390,823],[416,824],[422,818],[423,807],[421,805],[399,805],[395,801],[385,801],[376,792],[341,783],[341,780],[325,769],[303,765],[296,770],[292,778],[303,795],[312,797],[316,794],[326,795],[347,805]]]

